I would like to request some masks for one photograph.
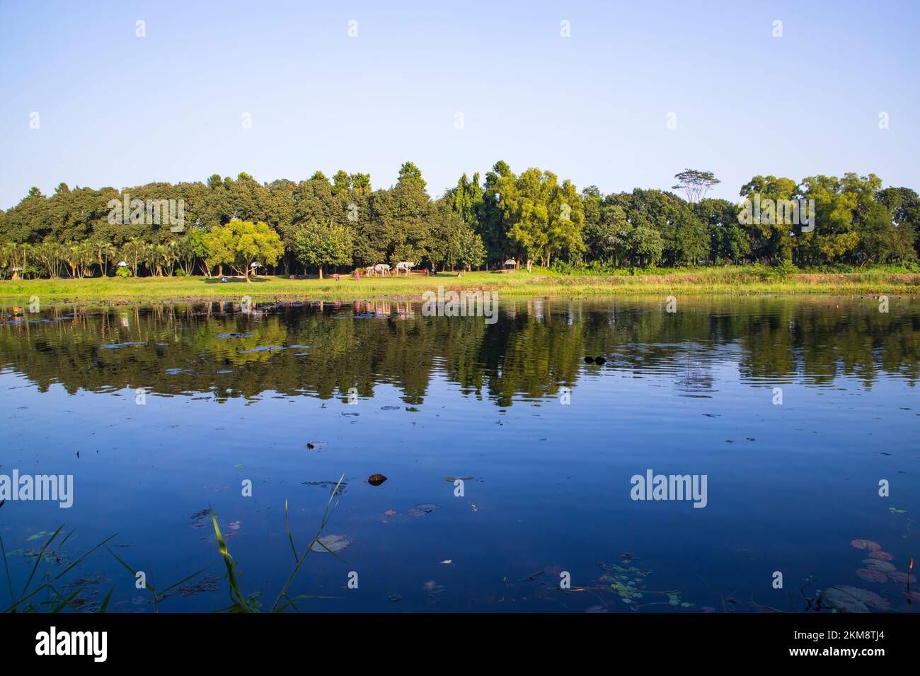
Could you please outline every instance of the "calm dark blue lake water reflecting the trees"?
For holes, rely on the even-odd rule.
[[[210,566],[162,611],[222,608],[211,506],[267,609],[293,567],[284,501],[302,551],[344,475],[344,561],[310,554],[290,590],[339,598],[300,610],[803,610],[811,576],[810,597],[920,606],[895,581],[920,560],[917,301],[502,300],[493,325],[405,302],[23,309],[0,326],[0,474],[75,486],[70,509],[0,510],[17,587],[65,522],[43,570],[118,533],[160,588]],[[631,499],[649,469],[706,475],[706,507]],[[153,610],[104,550],[65,579],[86,609],[114,587],[110,610]]]

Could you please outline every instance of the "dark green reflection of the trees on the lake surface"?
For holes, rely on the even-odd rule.
[[[920,304],[871,299],[684,301],[514,300],[500,319],[428,317],[409,301],[262,305],[57,306],[4,313],[6,369],[40,389],[70,393],[145,387],[218,401],[282,395],[370,397],[390,384],[409,405],[432,377],[499,407],[577,388],[598,369],[668,375],[686,396],[713,392],[715,369],[750,384],[830,384],[846,375],[869,388],[880,375],[912,386],[920,375]],[[604,355],[604,366],[585,364]],[[724,377],[724,373],[723,376]]]

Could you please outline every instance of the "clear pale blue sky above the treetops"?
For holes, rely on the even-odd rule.
[[[604,193],[685,167],[730,200],[756,174],[920,189],[918,34],[917,2],[0,0],[0,209],[241,171],[385,188],[406,160],[432,196],[499,159]]]

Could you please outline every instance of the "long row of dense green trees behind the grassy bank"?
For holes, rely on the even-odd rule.
[[[342,170],[296,183],[259,183],[246,173],[121,190],[62,183],[51,196],[32,188],[0,211],[0,278],[211,276],[224,268],[247,278],[257,268],[322,276],[400,260],[444,270],[495,269],[509,259],[527,269],[604,274],[912,263],[920,252],[920,198],[909,188],[882,189],[874,174],[799,182],[755,176],[740,197],[758,207],[776,203],[777,215],[754,221],[743,217],[742,204],[706,197],[719,183],[711,172],[687,169],[676,178],[673,189],[683,197],[660,189],[579,191],[535,167],[515,175],[503,161],[484,179],[464,174],[436,199],[412,162],[388,189]],[[780,205],[798,201],[813,209],[811,230],[779,215]]]

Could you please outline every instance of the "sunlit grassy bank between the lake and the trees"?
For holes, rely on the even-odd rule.
[[[361,300],[371,298],[417,298],[438,285],[461,290],[497,291],[505,296],[559,298],[620,295],[915,295],[920,274],[885,271],[858,273],[791,274],[781,278],[763,269],[704,268],[663,274],[605,277],[561,276],[542,271],[528,273],[442,273],[432,277],[362,277],[354,281],[290,280],[260,277],[247,283],[242,278],[222,282],[203,277],[141,279],[0,281],[0,300],[26,303],[30,296],[49,302],[131,303],[152,301],[238,300],[248,295],[262,301]]]

